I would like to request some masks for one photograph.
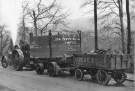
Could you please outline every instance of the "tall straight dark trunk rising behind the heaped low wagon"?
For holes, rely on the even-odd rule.
[[[98,49],[97,0],[94,0],[94,23],[95,23],[95,50],[97,50]]]

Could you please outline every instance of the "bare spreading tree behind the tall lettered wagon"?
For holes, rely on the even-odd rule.
[[[41,32],[41,36],[44,30],[50,24],[64,24],[63,20],[67,17],[66,14],[60,14],[61,7],[56,4],[56,0],[46,6],[43,4],[42,0],[39,0],[36,8],[27,8],[28,14],[32,19],[32,23],[34,26],[35,35],[37,36]]]

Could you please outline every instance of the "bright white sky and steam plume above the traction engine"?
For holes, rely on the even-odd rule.
[[[17,0],[0,0],[0,24],[5,24],[7,29],[11,32],[13,42],[17,37],[17,23],[20,10],[19,2]],[[19,0],[18,0],[19,1]]]

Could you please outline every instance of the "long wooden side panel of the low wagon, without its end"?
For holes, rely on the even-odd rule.
[[[105,55],[76,55],[74,57],[75,66],[94,67],[94,68],[107,68],[108,62]]]

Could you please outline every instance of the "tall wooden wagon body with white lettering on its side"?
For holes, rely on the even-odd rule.
[[[30,37],[30,54],[33,57],[62,57],[80,52],[80,32],[49,31],[44,36]]]

